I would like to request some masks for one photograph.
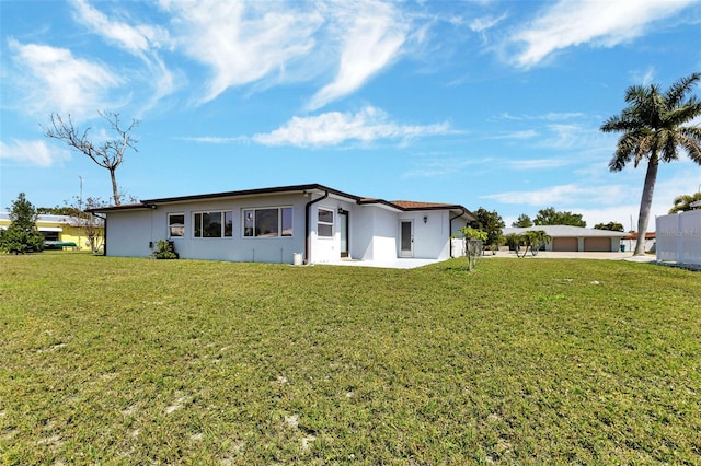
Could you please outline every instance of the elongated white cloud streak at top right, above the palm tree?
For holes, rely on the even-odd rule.
[[[654,22],[691,3],[693,0],[561,0],[507,40],[518,49],[514,62],[530,68],[567,47],[582,44],[613,47],[631,40],[644,34]]]

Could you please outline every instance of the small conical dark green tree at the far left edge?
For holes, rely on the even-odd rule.
[[[44,251],[44,235],[36,230],[36,209],[24,193],[20,193],[8,210],[12,223],[0,231],[0,249],[10,254]]]

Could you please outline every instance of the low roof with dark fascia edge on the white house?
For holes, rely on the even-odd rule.
[[[469,218],[470,220],[475,220],[475,217],[470,212],[467,208],[460,205],[451,205],[451,203],[438,203],[438,202],[417,202],[417,201],[409,201],[409,200],[397,200],[397,201],[387,201],[384,199],[378,198],[367,198],[360,197],[356,195],[352,195],[348,193],[340,191],[334,188],[330,188],[320,184],[309,184],[309,185],[291,185],[291,186],[278,186],[272,188],[260,188],[260,189],[244,189],[237,191],[223,191],[223,193],[212,193],[212,194],[203,194],[203,195],[193,195],[193,196],[177,196],[177,197],[165,197],[165,198],[157,198],[157,199],[145,199],[141,200],[140,203],[131,203],[126,206],[113,206],[113,207],[101,207],[95,209],[90,209],[92,212],[111,212],[118,210],[135,210],[135,209],[154,209],[158,205],[161,203],[179,203],[179,202],[189,202],[193,200],[210,200],[210,199],[221,199],[221,198],[241,198],[241,197],[253,197],[253,196],[269,196],[276,194],[289,194],[289,193],[300,193],[300,194],[327,194],[330,197],[335,197],[340,199],[346,199],[358,205],[371,205],[377,203],[390,209],[397,209],[400,211],[413,211],[413,210],[452,210],[459,211],[462,215]]]

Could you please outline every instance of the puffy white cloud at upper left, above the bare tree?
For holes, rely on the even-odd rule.
[[[123,79],[107,67],[77,58],[65,48],[42,44],[8,42],[16,73],[12,85],[19,89],[23,112],[70,113],[76,117],[94,115],[95,108],[110,108],[110,91]]]

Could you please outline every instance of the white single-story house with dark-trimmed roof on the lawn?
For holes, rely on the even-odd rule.
[[[447,259],[464,207],[387,201],[319,184],[141,200],[96,208],[105,254],[148,257],[160,240],[181,258],[323,264],[343,258]]]

